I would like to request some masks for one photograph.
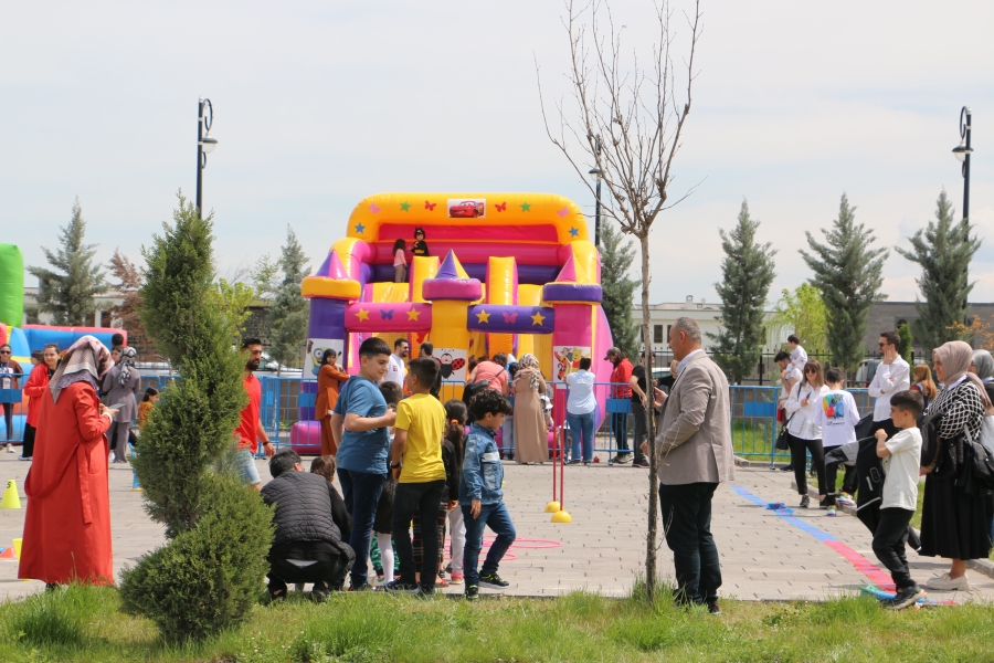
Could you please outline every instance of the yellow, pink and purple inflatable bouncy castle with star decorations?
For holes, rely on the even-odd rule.
[[[427,255],[414,255],[422,231]],[[394,283],[394,242],[404,240],[408,282]],[[601,309],[601,264],[586,219],[549,193],[383,193],[360,202],[348,235],[304,280],[310,299],[305,377],[326,348],[358,371],[370,336],[399,336],[416,356],[424,340],[442,361],[444,398],[458,398],[470,357],[538,357],[561,382],[590,357],[607,381],[612,345]],[[306,399],[304,402],[307,402]],[[305,412],[302,412],[302,419]]]

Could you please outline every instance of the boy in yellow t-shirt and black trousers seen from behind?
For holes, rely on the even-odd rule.
[[[445,408],[431,396],[438,365],[419,357],[408,368],[410,398],[400,402],[394,423],[390,471],[396,480],[393,496],[393,543],[400,557],[400,578],[388,582],[390,592],[432,594],[438,577],[438,539],[423,537],[421,568],[414,564],[410,524],[416,513],[422,523],[435,523],[445,492],[445,465],[442,463],[442,435]],[[421,571],[420,585],[417,571]]]

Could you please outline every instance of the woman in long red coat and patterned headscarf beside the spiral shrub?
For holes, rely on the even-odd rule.
[[[96,386],[110,352],[93,336],[66,351],[41,397],[38,451],[24,482],[19,578],[113,585],[107,438],[112,413]]]

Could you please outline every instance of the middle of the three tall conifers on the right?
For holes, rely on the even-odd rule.
[[[870,248],[876,238],[873,231],[856,223],[856,208],[849,206],[845,193],[838,203],[838,219],[822,232],[824,244],[804,232],[812,253],[802,251],[801,255],[814,272],[811,283],[822,292],[825,302],[832,364],[855,372],[866,355],[866,316],[874,302],[887,297],[880,285],[888,254],[886,249]]]

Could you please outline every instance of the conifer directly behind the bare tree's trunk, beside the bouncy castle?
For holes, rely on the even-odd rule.
[[[628,357],[636,357],[641,351],[638,344],[638,326],[632,320],[632,303],[638,282],[628,276],[635,264],[635,248],[632,242],[624,241],[607,220],[601,221],[601,307],[614,345]]]

